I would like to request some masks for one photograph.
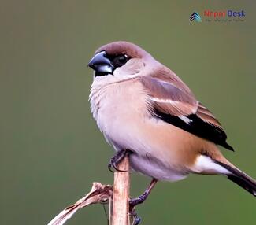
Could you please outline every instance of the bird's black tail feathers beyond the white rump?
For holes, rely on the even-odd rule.
[[[221,163],[217,160],[215,160],[215,162],[231,172],[231,174],[227,175],[228,179],[243,187],[243,189],[247,190],[248,192],[250,192],[250,194],[253,194],[256,197],[256,181],[254,179],[252,179],[246,173],[240,171],[238,168]]]

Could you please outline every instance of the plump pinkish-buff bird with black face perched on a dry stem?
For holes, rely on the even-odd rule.
[[[234,151],[220,122],[165,65],[132,42],[98,48],[89,101],[106,141],[115,149],[110,166],[128,153],[135,172],[152,181],[130,200],[143,203],[158,181],[188,175],[223,175],[256,196],[256,181],[229,162],[219,146]]]

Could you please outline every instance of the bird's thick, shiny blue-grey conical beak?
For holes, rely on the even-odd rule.
[[[111,61],[106,57],[106,51],[95,54],[91,61],[89,61],[88,66],[95,70],[95,72],[98,74],[113,74],[113,65],[111,64]]]

